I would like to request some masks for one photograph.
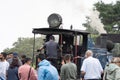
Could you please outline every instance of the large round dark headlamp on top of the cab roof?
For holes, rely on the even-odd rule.
[[[59,14],[53,13],[48,17],[48,24],[50,28],[59,28],[62,24],[62,17]]]

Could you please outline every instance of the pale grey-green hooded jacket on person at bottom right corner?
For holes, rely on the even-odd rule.
[[[108,64],[105,68],[103,80],[120,80],[120,67],[116,64]]]

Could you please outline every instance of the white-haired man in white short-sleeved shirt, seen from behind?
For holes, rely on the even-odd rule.
[[[83,61],[81,67],[81,74],[85,80],[100,80],[103,68],[98,59],[93,58],[91,50],[86,51],[86,59]]]

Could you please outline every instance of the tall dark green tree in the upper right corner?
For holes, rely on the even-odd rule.
[[[100,12],[99,18],[107,33],[120,33],[120,1],[115,4],[105,4],[101,1],[94,6],[95,10]]]

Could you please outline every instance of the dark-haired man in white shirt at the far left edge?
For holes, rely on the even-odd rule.
[[[0,53],[0,80],[6,80],[6,73],[9,68],[9,63],[6,61],[6,56],[6,53]]]

